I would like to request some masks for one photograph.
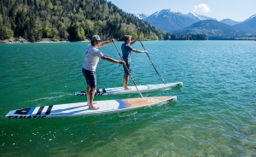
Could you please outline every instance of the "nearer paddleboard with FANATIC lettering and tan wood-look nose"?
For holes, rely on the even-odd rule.
[[[22,108],[9,111],[6,118],[52,118],[52,117],[73,117],[90,114],[119,113],[137,108],[153,106],[164,102],[176,102],[177,96],[156,96],[131,99],[117,99],[108,101],[97,101],[96,106],[100,109],[89,110],[87,102],[68,103],[35,108]]]

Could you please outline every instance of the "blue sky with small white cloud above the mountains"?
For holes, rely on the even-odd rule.
[[[256,0],[108,0],[127,13],[151,15],[161,9],[193,12],[217,20],[243,21],[256,14]]]

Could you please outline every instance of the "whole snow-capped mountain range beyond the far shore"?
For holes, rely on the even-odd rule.
[[[229,32],[228,30],[232,30],[232,32],[228,33],[232,36],[256,35],[256,15],[252,15],[242,22],[230,19],[218,21],[215,18],[207,17],[205,15],[197,15],[194,13],[184,15],[174,9],[162,9],[149,16],[143,16],[143,14],[137,15],[137,17],[138,16],[143,20],[147,20],[158,29],[172,33],[177,33],[177,30],[180,30],[178,33],[200,32],[207,35],[218,36]]]

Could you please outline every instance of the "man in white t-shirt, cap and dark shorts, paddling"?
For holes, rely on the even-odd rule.
[[[84,74],[84,78],[87,83],[87,103],[89,106],[89,109],[96,110],[99,109],[98,107],[94,106],[93,99],[94,99],[94,93],[96,90],[96,67],[99,62],[99,59],[105,61],[110,61],[113,63],[119,63],[122,65],[125,65],[125,61],[118,61],[114,60],[113,58],[110,58],[106,55],[103,55],[102,51],[100,51],[97,48],[100,48],[102,46],[107,46],[108,44],[111,44],[114,42],[114,39],[112,38],[110,41],[101,43],[101,38],[98,35],[94,35],[91,37],[90,44],[88,45],[85,56],[84,56],[84,65],[82,68],[82,72]]]

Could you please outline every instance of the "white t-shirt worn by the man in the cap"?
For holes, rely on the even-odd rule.
[[[104,56],[102,51],[89,44],[84,55],[84,69],[95,72],[99,59],[102,56]]]

